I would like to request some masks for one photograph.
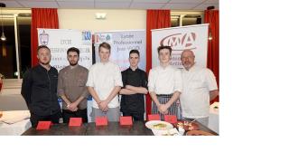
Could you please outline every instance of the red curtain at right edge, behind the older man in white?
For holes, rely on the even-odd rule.
[[[219,10],[206,10],[205,24],[210,24],[212,36],[212,40],[208,41],[207,67],[214,72],[219,86]],[[212,101],[219,101],[219,97]]]

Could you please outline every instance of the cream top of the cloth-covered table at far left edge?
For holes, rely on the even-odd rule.
[[[29,110],[9,110],[3,111],[3,115],[0,118],[0,121],[7,124],[14,124],[16,122],[22,121],[23,119],[29,119],[30,112]]]

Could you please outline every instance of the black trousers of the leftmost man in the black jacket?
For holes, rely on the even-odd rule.
[[[38,121],[51,121],[52,123],[56,124],[60,123],[60,119],[61,119],[61,111],[49,116],[39,116],[31,113],[30,117],[30,121],[31,124],[33,125],[33,128],[37,127]]]

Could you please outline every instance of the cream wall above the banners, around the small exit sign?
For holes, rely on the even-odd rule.
[[[107,13],[106,20],[97,20],[96,13]],[[146,28],[145,10],[59,9],[61,29],[103,32]]]

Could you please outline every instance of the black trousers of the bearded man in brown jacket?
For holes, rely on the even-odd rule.
[[[82,122],[88,122],[88,110],[77,110],[77,111],[70,111],[70,110],[62,110],[62,118],[64,123],[69,123],[70,118],[82,118]]]

